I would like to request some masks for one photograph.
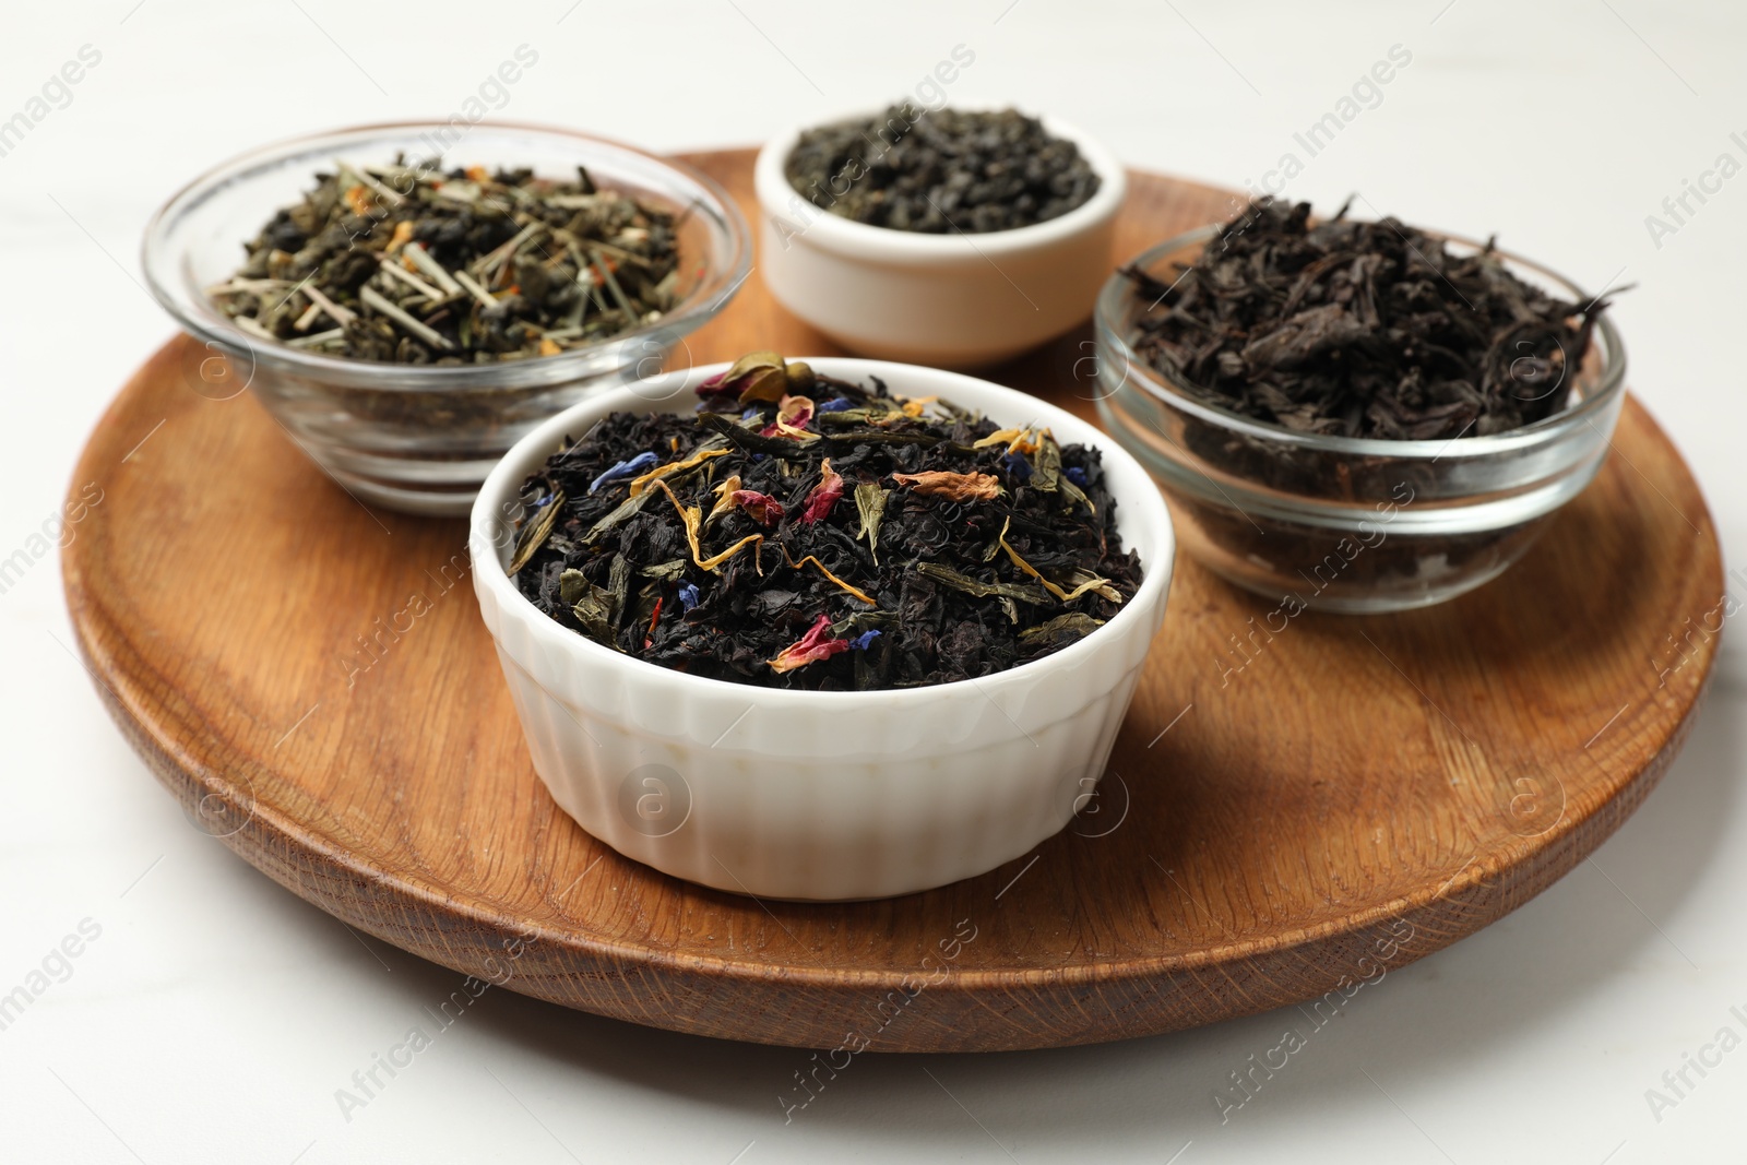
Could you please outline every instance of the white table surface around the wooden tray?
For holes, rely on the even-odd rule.
[[[58,510],[105,403],[173,332],[136,262],[142,225],[173,189],[273,138],[456,110],[521,44],[538,63],[500,115],[653,148],[753,143],[875,105],[964,45],[975,63],[954,101],[1013,100],[1095,131],[1132,164],[1230,185],[1260,182],[1399,44],[1410,66],[1288,194],[1328,210],[1359,190],[1413,222],[1495,231],[1583,285],[1637,283],[1618,302],[1632,384],[1696,468],[1730,555],[1747,550],[1747,384],[1728,355],[1747,176],[1691,201],[1660,246],[1646,227],[1721,152],[1747,162],[1730,140],[1747,138],[1738,3],[568,9],[12,10],[0,119],[82,45],[101,61],[0,157],[0,557]],[[1747,601],[1747,585],[1737,594]],[[491,992],[342,1114],[335,1090],[458,976],[360,940],[189,828],[70,643],[51,554],[0,594],[0,994],[82,922],[100,934],[0,1031],[5,1162],[1740,1160],[1747,1046],[1705,1051],[1721,1064],[1688,1069],[1679,1097],[1661,1083],[1719,1029],[1747,1037],[1737,629],[1686,753],[1593,863],[1389,971],[1228,1123],[1214,1092],[1296,1013],[1104,1048],[861,1057],[784,1125],[777,1097],[804,1053]],[[1653,1109],[1649,1088],[1674,1104]]]

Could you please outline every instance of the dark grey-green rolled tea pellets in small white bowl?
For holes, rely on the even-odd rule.
[[[833,215],[928,234],[1029,227],[1099,189],[1078,147],[1036,117],[910,103],[809,129],[784,169],[791,187]]]

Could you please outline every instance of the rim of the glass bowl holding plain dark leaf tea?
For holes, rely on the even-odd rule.
[[[1183,386],[1188,384],[1184,377],[1170,376],[1160,372],[1151,363],[1141,358],[1129,342],[1125,332],[1130,328],[1118,328],[1116,320],[1123,300],[1134,290],[1134,281],[1127,276],[1129,267],[1148,269],[1160,259],[1174,252],[1186,250],[1197,243],[1209,243],[1219,236],[1225,229],[1223,222],[1209,224],[1204,227],[1195,227],[1193,231],[1184,231],[1174,238],[1143,250],[1139,255],[1129,262],[1116,267],[1109,279],[1104,281],[1104,288],[1097,295],[1097,306],[1092,311],[1092,330],[1101,349],[1115,355],[1123,363],[1123,384],[1136,383],[1150,396],[1164,402],[1165,405],[1177,409],[1181,412],[1193,414],[1195,417],[1216,424],[1219,428],[1242,433],[1258,440],[1272,442],[1275,445],[1289,445],[1296,449],[1314,451],[1314,452],[1338,452],[1338,454],[1356,454],[1371,458],[1394,458],[1394,459],[1413,459],[1413,458],[1473,458],[1488,456],[1497,452],[1509,452],[1522,449],[1523,445],[1534,445],[1546,440],[1550,435],[1557,435],[1567,428],[1574,428],[1579,423],[1590,421],[1592,416],[1605,412],[1614,396],[1618,396],[1625,388],[1626,374],[1626,351],[1625,342],[1619,337],[1619,330],[1614,327],[1612,318],[1602,313],[1597,320],[1597,332],[1600,334],[1602,344],[1602,367],[1597,376],[1597,386],[1592,393],[1585,395],[1574,405],[1567,405],[1551,416],[1541,417],[1530,424],[1522,424],[1513,430],[1504,430],[1502,433],[1487,433],[1483,437],[1438,437],[1429,440],[1391,440],[1387,437],[1340,437],[1329,433],[1302,433],[1298,430],[1286,428],[1284,424],[1274,424],[1268,421],[1258,421],[1254,417],[1246,417],[1228,409],[1211,405],[1204,400],[1191,396]],[[1454,234],[1447,231],[1426,231],[1431,238],[1441,239],[1445,243],[1455,243],[1457,246],[1483,250],[1487,245],[1471,239],[1462,234]],[[1576,302],[1595,302],[1600,295],[1588,295],[1574,281],[1558,274],[1551,267],[1539,264],[1532,259],[1525,259],[1515,252],[1506,252],[1494,246],[1492,253],[1502,259],[1508,265],[1525,267],[1541,279],[1553,283],[1553,290],[1562,295],[1571,295]],[[1604,290],[1602,295],[1607,292]],[[1134,379],[1134,372],[1139,372],[1139,381]],[[1122,386],[1118,386],[1120,391]]]

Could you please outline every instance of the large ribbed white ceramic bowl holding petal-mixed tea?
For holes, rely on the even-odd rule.
[[[627,858],[760,898],[882,898],[945,886],[1059,831],[1104,774],[1165,613],[1176,536],[1158,487],[1116,442],[1034,396],[870,360],[809,363],[938,395],[1005,424],[1094,444],[1123,545],[1146,571],[1095,632],[985,679],[790,692],[629,658],[533,606],[505,573],[529,473],[615,410],[690,412],[727,365],[613,389],[510,449],[473,505],[468,550],[535,770],[583,830]]]

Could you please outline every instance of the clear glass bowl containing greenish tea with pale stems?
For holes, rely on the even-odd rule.
[[[463,367],[325,356],[257,339],[206,295],[243,262],[243,245],[334,159],[531,168],[573,176],[683,215],[680,299],[659,321],[587,348]],[[751,234],[704,175],[643,150],[566,129],[400,122],[267,145],[224,162],[171,197],[145,231],[145,278],[201,348],[183,379],[204,396],[245,388],[304,452],[363,501],[412,514],[466,514],[491,466],[524,433],[597,389],[659,372],[681,339],[720,313],[751,271]],[[683,360],[681,360],[683,363]]]

